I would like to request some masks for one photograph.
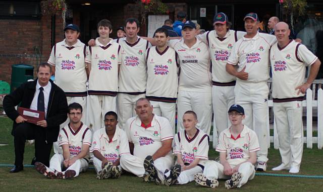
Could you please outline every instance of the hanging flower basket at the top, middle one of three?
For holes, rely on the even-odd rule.
[[[160,0],[138,0],[136,6],[140,8],[141,23],[146,23],[147,15],[165,15],[169,14],[169,10],[166,4]]]

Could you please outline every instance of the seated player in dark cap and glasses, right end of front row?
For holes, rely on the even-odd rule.
[[[203,173],[196,173],[197,184],[218,187],[217,179],[228,179],[226,188],[241,187],[254,178],[256,151],[260,150],[257,135],[242,124],[244,109],[233,105],[229,109],[231,126],[220,133],[216,151],[220,152],[220,163],[207,161]]]

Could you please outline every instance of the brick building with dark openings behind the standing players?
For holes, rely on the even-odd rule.
[[[30,64],[36,66],[46,62],[53,44],[64,39],[62,12],[54,16],[42,15],[41,4],[46,1],[37,0],[0,0],[0,80],[10,83],[11,65]],[[80,40],[86,43],[97,36],[96,24],[101,19],[112,21],[116,37],[116,29],[124,25],[126,18],[141,18],[135,0],[66,0],[66,23],[80,26]],[[90,5],[87,5],[90,2]],[[176,19],[179,11],[185,11],[188,19],[195,20],[202,29],[212,29],[214,13],[225,12],[233,23],[233,29],[244,30],[243,16],[248,12],[256,12],[260,20],[268,16],[281,16],[278,0],[179,0],[164,1],[168,6],[169,18]],[[206,17],[200,11],[206,10]],[[308,1],[307,17],[323,22],[323,2]],[[265,23],[265,22],[264,22]],[[320,26],[320,25],[317,25]],[[323,26],[323,25],[322,25]],[[320,29],[320,28],[319,28]],[[323,27],[322,27],[323,30]],[[141,26],[140,35],[147,34],[147,24]]]

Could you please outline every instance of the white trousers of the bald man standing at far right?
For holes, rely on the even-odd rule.
[[[301,101],[274,103],[274,117],[282,164],[300,168],[303,155],[303,109]]]

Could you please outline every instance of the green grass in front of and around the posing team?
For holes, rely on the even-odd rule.
[[[0,147],[0,164],[13,164],[14,146],[11,136],[12,121],[0,117],[0,143],[8,143],[8,146]],[[210,144],[212,146],[212,144]],[[219,155],[214,150],[209,150],[209,158],[214,159]],[[29,164],[34,156],[34,146],[26,145],[24,164]],[[288,171],[271,171],[270,169],[280,164],[279,151],[270,148],[268,158],[268,170],[266,173],[288,174]],[[313,149],[304,147],[303,160],[301,165],[302,175],[323,175],[323,151],[313,145]],[[91,166],[92,167],[92,166]],[[120,179],[95,179],[95,171],[89,169],[81,173],[79,177],[71,180],[46,179],[34,168],[25,167],[19,173],[9,173],[10,167],[0,166],[0,191],[227,191],[224,188],[224,180],[220,180],[217,189],[195,186],[194,182],[185,185],[174,185],[171,187],[158,186],[154,183],[144,183],[129,173],[123,174]],[[322,179],[294,178],[294,177],[273,177],[255,176],[242,188],[241,191],[321,191],[323,188]],[[237,190],[237,189],[234,189]]]

